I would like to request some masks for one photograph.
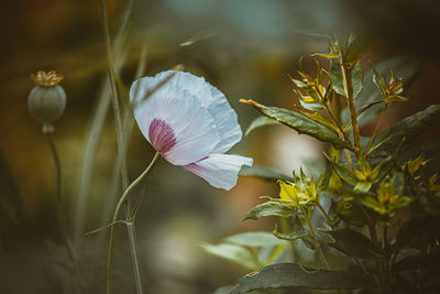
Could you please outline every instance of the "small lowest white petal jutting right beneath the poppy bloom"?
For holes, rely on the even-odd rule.
[[[253,160],[235,154],[210,154],[207,159],[185,165],[216,188],[230,190],[237,185],[242,165],[252,166]]]

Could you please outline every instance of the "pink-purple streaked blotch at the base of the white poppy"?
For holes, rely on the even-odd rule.
[[[172,150],[177,141],[172,127],[161,119],[153,119],[148,129],[150,142],[160,153]]]

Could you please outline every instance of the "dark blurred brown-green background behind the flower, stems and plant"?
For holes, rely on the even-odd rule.
[[[102,225],[100,211],[114,184],[117,153],[111,110],[100,131],[89,135],[97,109],[103,109],[99,101],[109,99],[102,90],[107,59],[99,1],[18,0],[0,6],[0,292],[75,293],[56,221],[51,150],[26,106],[33,87],[30,74],[57,70],[65,76],[62,85],[68,96],[54,134],[63,166],[64,208],[70,231],[79,233],[75,250],[82,291],[103,293],[107,235],[101,233],[103,242],[99,241],[102,236],[82,237],[84,231]],[[145,75],[184,64],[185,70],[204,76],[226,94],[243,130],[257,113],[240,105],[239,98],[292,108],[297,100],[287,74],[295,75],[299,56],[326,52],[322,35],[329,33],[360,32],[374,37],[377,44],[365,56],[365,68],[396,55],[421,62],[406,90],[411,101],[395,107],[383,129],[438,102],[439,8],[433,0],[108,1],[125,87],[133,80],[143,50],[147,53]],[[127,29],[117,37],[121,23]],[[439,134],[435,128],[422,139]],[[81,175],[90,140],[96,140],[97,150],[86,185]],[[290,174],[305,161],[319,159],[321,150],[316,140],[284,127],[267,127],[244,138],[233,153]],[[127,156],[130,178],[143,171],[153,153],[135,127]],[[276,195],[274,183],[243,177],[231,192],[223,192],[165,161],[145,183],[136,230],[146,293],[210,293],[233,284],[246,270],[208,255],[199,244],[240,231],[273,229],[271,219],[241,219],[261,202],[258,196]],[[79,211],[84,224],[78,232],[79,194],[87,198]],[[118,232],[116,293],[134,293],[125,230]]]

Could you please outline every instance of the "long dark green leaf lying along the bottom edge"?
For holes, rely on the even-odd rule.
[[[258,288],[307,287],[317,290],[366,288],[370,284],[353,271],[326,271],[307,269],[295,263],[278,263],[246,274],[229,294]]]

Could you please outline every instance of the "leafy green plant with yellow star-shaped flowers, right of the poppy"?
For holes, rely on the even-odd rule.
[[[359,35],[329,41],[328,53],[311,55],[315,75],[304,70],[300,62],[298,78],[290,77],[300,102],[295,110],[241,99],[262,113],[246,134],[282,123],[328,143],[327,166],[319,178],[302,171],[286,178],[264,166],[243,172],[278,178],[279,185],[279,197],[266,196],[244,219],[277,217],[283,226],[280,231],[275,227],[274,236],[293,246],[301,240],[318,262],[272,262],[253,269],[229,293],[282,287],[427,293],[439,286],[439,174],[424,173],[429,164],[425,154],[405,162],[399,155],[402,148],[440,121],[440,105],[380,134],[386,111],[408,101],[399,73],[410,81],[417,67],[394,58],[377,65],[381,73],[373,67],[365,74],[361,58],[372,47],[370,40]],[[384,66],[389,75],[384,74]],[[374,131],[361,137],[360,128],[374,118]],[[405,220],[396,217],[400,211]],[[326,221],[320,222],[320,217]],[[340,262],[331,263],[329,257],[336,254]]]

